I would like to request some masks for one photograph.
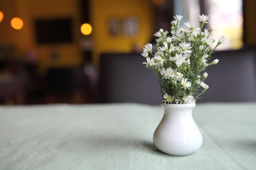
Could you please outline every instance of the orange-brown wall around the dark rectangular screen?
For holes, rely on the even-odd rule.
[[[4,19],[0,23],[0,42],[14,44],[20,54],[26,54],[30,49],[35,50],[38,60],[43,66],[79,65],[81,52],[79,49],[80,20],[78,0],[1,0],[0,10]],[[12,17],[23,19],[21,30],[14,30],[10,26]],[[56,45],[59,54],[57,61],[52,61],[50,54],[52,46],[37,45],[34,37],[33,21],[36,18],[72,17],[73,44]]]

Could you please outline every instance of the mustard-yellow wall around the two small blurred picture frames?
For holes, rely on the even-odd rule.
[[[153,36],[153,8],[150,0],[91,0],[94,63],[103,52],[131,52],[134,43],[145,45]],[[108,19],[111,17],[137,17],[139,32],[134,37],[111,37]]]

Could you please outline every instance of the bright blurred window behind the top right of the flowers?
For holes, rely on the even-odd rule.
[[[239,49],[243,46],[242,4],[242,0],[183,0],[183,22],[186,20],[200,26],[198,15],[207,14],[210,17],[206,28],[214,26],[213,38],[218,40],[224,35],[229,41],[218,50]]]

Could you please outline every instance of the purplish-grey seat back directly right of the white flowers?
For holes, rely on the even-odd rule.
[[[198,102],[255,102],[255,51],[216,51],[212,57],[220,61],[206,68],[209,89]]]

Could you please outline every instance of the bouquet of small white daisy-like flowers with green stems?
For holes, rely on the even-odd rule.
[[[204,29],[209,16],[199,15],[201,28],[196,28],[193,24],[184,23],[179,25],[182,16],[176,15],[172,21],[171,34],[168,31],[157,31],[157,51],[153,54],[152,44],[145,45],[143,57],[147,59],[146,68],[154,71],[160,79],[160,87],[163,101],[166,103],[194,103],[209,86],[204,83],[207,72],[200,74],[209,65],[218,63],[218,59],[208,62],[212,52],[219,46],[225,45],[227,39],[221,36],[218,42],[212,38],[215,29],[211,26],[209,30]],[[216,44],[213,46],[213,44]],[[148,54],[153,57],[150,59]],[[203,90],[198,92],[198,88]]]

